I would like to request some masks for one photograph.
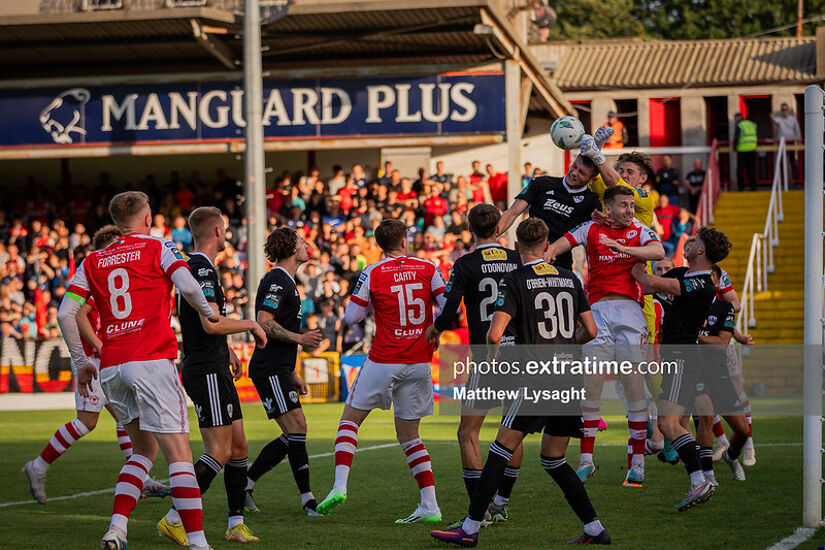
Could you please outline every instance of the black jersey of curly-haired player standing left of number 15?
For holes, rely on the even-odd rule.
[[[281,267],[273,267],[258,284],[255,297],[255,315],[266,311],[275,317],[275,322],[290,332],[298,332],[301,327],[301,298],[295,281]],[[261,377],[295,370],[298,344],[267,338],[266,347],[255,348],[249,360],[249,376]]]

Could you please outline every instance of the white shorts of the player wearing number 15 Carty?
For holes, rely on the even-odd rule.
[[[350,407],[370,411],[393,406],[396,418],[417,420],[433,414],[429,363],[406,365],[364,361],[347,398]]]

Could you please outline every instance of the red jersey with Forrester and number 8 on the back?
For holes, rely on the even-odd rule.
[[[189,266],[172,241],[132,233],[89,254],[72,279],[70,298],[94,298],[100,315],[100,368],[175,359],[169,324],[172,273]]]

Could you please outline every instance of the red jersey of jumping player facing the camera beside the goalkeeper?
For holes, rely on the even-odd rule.
[[[564,235],[571,247],[583,244],[587,250],[590,272],[587,298],[591,304],[608,294],[624,294],[644,307],[642,286],[630,274],[631,268],[639,260],[600,244],[599,235],[605,235],[624,246],[644,246],[650,241],[657,241],[656,234],[634,218],[628,227],[608,227],[592,221],[585,222]]]

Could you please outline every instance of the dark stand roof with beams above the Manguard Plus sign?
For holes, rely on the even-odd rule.
[[[3,87],[113,75],[237,77],[240,69],[242,0],[174,8],[164,0],[131,0],[131,9],[99,11],[79,10],[79,2],[68,0],[45,0],[39,11],[38,3],[28,2],[33,4],[34,13],[20,7],[23,0],[0,6]],[[533,82],[531,108],[572,112],[515,38],[502,5],[499,0],[294,0],[286,17],[263,28],[264,71],[280,77],[368,76],[465,70],[511,58]],[[477,24],[493,27],[493,34],[476,34]]]

